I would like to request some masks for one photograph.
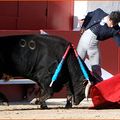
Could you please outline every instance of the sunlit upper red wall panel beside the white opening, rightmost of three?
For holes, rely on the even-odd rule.
[[[72,30],[73,25],[73,0],[49,1],[47,29]]]

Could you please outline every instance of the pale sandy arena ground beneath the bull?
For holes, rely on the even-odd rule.
[[[88,109],[92,101],[84,99],[72,109],[64,109],[65,99],[49,99],[49,109],[41,110],[39,105],[28,102],[14,102],[0,106],[0,119],[120,119],[120,109]]]

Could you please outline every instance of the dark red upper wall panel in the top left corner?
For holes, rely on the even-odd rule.
[[[0,1],[0,29],[17,28],[17,2]]]

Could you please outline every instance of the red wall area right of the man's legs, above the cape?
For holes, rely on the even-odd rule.
[[[120,49],[113,39],[106,40],[100,44],[102,67],[113,75],[120,72]]]

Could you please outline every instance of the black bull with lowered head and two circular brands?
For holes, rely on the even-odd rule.
[[[36,82],[40,90],[39,104],[59,92],[67,84],[73,102],[78,105],[85,98],[86,80],[71,47],[62,69],[50,87],[51,78],[71,43],[52,35],[14,35],[0,37],[0,73],[21,76]],[[81,60],[82,61],[82,60]],[[86,67],[90,82],[96,82]],[[69,100],[68,100],[69,101]]]

